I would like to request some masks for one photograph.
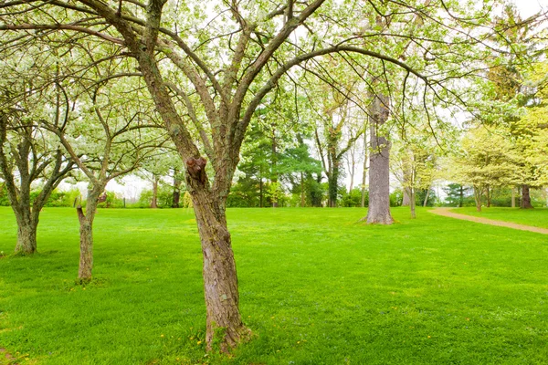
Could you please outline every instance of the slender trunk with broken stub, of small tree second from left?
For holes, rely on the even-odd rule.
[[[81,284],[91,281],[91,271],[93,270],[93,220],[97,213],[97,204],[99,203],[100,193],[103,188],[103,186],[93,186],[88,190],[85,214],[81,205],[76,208],[79,220],[80,238],[78,278]]]

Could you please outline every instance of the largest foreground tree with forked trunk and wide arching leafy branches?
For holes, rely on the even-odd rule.
[[[13,45],[21,45],[28,37],[45,38],[51,32],[65,35],[67,41],[93,37],[100,44],[116,47],[116,57],[131,58],[133,69],[141,74],[186,164],[186,186],[193,199],[204,255],[208,349],[214,343],[220,343],[223,350],[233,348],[250,333],[238,308],[226,201],[249,122],[279,80],[286,74],[290,77],[291,68],[306,68],[319,57],[343,57],[353,65],[364,64],[363,58],[369,57],[400,68],[406,79],[417,79],[434,99],[453,101],[458,95],[454,98],[442,92],[449,81],[475,75],[476,69],[461,65],[470,57],[485,56],[477,46],[484,46],[486,37],[471,36],[470,31],[489,21],[484,9],[474,7],[474,14],[469,15],[457,2],[448,5],[445,1],[401,4],[372,0],[322,6],[324,3],[216,2],[203,6],[188,1],[164,6],[165,0],[150,0],[147,5],[135,0],[79,0],[2,5],[8,12],[2,16],[0,31],[15,32],[10,37]],[[429,26],[413,32],[403,28],[394,34],[372,27],[356,36],[357,25],[364,18],[369,24],[374,24],[376,16],[395,18],[414,27],[409,17],[415,15]],[[327,33],[323,32],[326,19],[333,19]],[[309,33],[296,32],[300,26]],[[457,31],[448,34],[448,29]],[[386,41],[410,33],[425,49],[425,57],[403,60],[401,49]],[[435,67],[440,62],[458,66],[440,72]],[[382,110],[376,114],[381,115]],[[199,143],[194,136],[199,137]],[[373,151],[382,144],[372,146]],[[207,161],[214,175],[211,181],[205,172]]]

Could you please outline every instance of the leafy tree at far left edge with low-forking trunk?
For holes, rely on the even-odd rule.
[[[40,211],[74,162],[51,133],[38,127],[40,120],[65,122],[58,89],[47,79],[29,78],[29,70],[21,69],[25,66],[5,61],[0,75],[0,177],[16,214],[15,252],[30,255],[37,251]],[[41,186],[32,199],[31,187],[36,183]]]

